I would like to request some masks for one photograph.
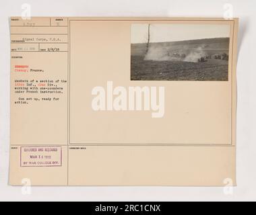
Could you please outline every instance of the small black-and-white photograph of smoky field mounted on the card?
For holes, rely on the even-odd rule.
[[[133,24],[131,81],[228,81],[230,26]]]

